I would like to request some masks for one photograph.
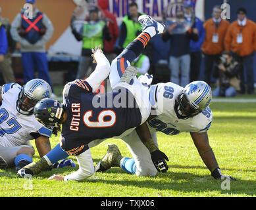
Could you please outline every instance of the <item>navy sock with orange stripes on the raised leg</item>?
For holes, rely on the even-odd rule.
[[[151,27],[149,27],[151,28]],[[147,28],[146,28],[147,30]],[[155,28],[154,28],[155,30]],[[118,58],[125,58],[130,63],[137,58],[151,39],[150,33],[142,32],[134,41],[132,41],[127,47],[118,55]]]

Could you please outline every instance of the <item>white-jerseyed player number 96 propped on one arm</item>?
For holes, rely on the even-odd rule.
[[[193,81],[185,88],[171,82],[152,85],[149,89],[149,100],[155,113],[151,114],[147,125],[156,148],[157,131],[170,136],[190,132],[199,156],[211,171],[211,175],[215,179],[221,179],[222,173],[207,135],[213,120],[213,113],[209,108],[211,99],[211,87],[204,81]],[[117,146],[113,144],[109,146],[103,159],[97,163],[95,171],[106,171],[116,166],[115,161],[118,159],[120,167],[125,171],[154,177],[157,174],[157,167],[154,167],[151,155],[138,139],[140,137],[135,132],[122,138],[128,144],[133,159],[122,157]]]

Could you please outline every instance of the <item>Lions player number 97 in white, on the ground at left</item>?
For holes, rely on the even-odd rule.
[[[32,162],[35,150],[30,140],[35,139],[41,157],[51,150],[49,137],[57,129],[44,127],[33,114],[39,100],[51,97],[51,87],[43,79],[32,79],[24,87],[8,83],[0,89],[0,169],[16,165],[18,171]],[[55,167],[71,164],[74,167],[71,160],[64,160]]]

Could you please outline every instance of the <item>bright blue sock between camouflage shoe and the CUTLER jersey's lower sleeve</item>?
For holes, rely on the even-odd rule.
[[[60,144],[57,144],[53,150],[48,152],[43,158],[46,159],[48,165],[53,165],[53,163],[56,163],[57,161],[61,159],[68,158],[68,154],[61,148]]]

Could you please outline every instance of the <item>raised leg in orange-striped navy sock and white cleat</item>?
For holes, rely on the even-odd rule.
[[[138,37],[136,37],[136,39],[134,39],[134,41],[132,41],[111,63],[109,80],[112,88],[120,81],[126,68],[130,66],[130,63],[141,54],[150,39],[156,34],[163,33],[165,30],[163,24],[156,22],[148,15],[141,15],[139,22],[143,26],[140,35],[138,35]],[[133,75],[134,72],[132,72],[131,79]]]

